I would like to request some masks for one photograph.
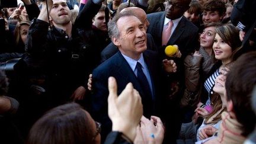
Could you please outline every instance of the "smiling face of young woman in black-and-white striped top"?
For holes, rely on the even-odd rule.
[[[232,48],[217,33],[213,43],[213,52],[215,58],[222,60],[223,64],[231,62]]]

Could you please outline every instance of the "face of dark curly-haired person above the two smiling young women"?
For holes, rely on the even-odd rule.
[[[219,15],[219,12],[217,11],[203,11],[203,23],[204,25],[212,23],[212,22],[220,22],[222,20],[223,16]]]

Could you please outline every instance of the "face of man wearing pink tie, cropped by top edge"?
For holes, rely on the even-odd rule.
[[[167,0],[165,1],[165,17],[175,20],[180,18],[189,8],[188,0]]]

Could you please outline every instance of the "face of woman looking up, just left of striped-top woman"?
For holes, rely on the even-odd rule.
[[[204,49],[212,49],[215,39],[215,27],[206,27],[200,35],[200,46]]]

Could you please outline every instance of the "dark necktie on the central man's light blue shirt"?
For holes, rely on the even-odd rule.
[[[146,78],[146,75],[142,71],[142,65],[139,62],[137,62],[136,68],[137,68],[137,79],[139,80],[139,83],[143,89],[143,92],[147,96],[150,96],[152,98],[151,88],[149,87],[148,79]]]

